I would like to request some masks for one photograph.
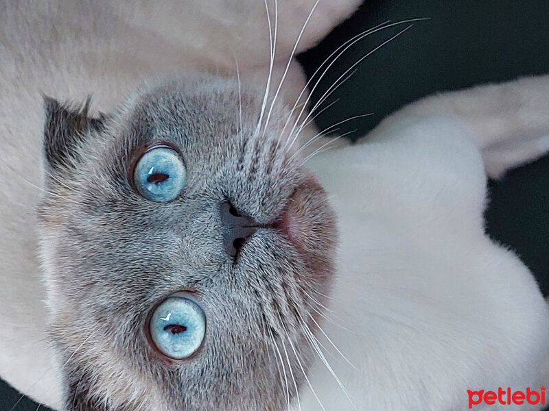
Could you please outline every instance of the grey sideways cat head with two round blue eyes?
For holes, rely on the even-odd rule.
[[[288,110],[176,79],[98,119],[46,100],[41,255],[65,410],[282,410],[336,229]],[[288,127],[291,128],[291,127]]]

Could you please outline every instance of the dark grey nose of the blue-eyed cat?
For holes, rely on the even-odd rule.
[[[229,201],[220,206],[221,221],[223,223],[223,243],[229,256],[235,257],[246,239],[253,236],[261,225],[252,217],[238,211]]]

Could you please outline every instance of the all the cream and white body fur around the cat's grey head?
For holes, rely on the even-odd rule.
[[[261,1],[75,3],[0,5],[0,374],[54,408],[33,214],[43,178],[39,92],[78,101],[93,93],[108,110],[153,75],[230,74],[234,55],[241,75],[263,82],[268,68]],[[314,1],[279,3],[274,84]],[[357,3],[320,1],[300,49]],[[303,86],[295,64],[287,84],[292,101]],[[467,409],[467,389],[539,388],[548,309],[524,264],[484,235],[482,210],[484,165],[500,175],[546,151],[548,109],[547,78],[432,97],[384,121],[366,144],[309,162],[334,196],[342,234],[323,329],[353,366],[327,340],[325,356],[357,409],[457,411]],[[320,360],[310,379],[325,410],[355,409]],[[300,400],[303,411],[321,409],[308,388]]]

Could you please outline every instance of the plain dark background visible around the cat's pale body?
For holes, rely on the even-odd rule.
[[[320,129],[373,112],[339,127],[338,134],[356,130],[351,137],[358,138],[386,114],[432,92],[549,73],[547,0],[366,0],[349,21],[300,60],[312,75],[355,34],[388,20],[422,17],[430,20],[414,23],[358,64],[358,71],[327,99],[327,104],[338,101],[318,116]],[[313,101],[362,55],[404,27],[382,30],[351,47],[325,75]],[[488,232],[519,253],[544,294],[549,294],[549,156],[502,181],[489,182],[489,187]],[[10,411],[19,397],[0,381],[0,411]],[[24,398],[14,411],[37,407]]]

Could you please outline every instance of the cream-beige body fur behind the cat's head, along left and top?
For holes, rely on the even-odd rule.
[[[45,175],[41,94],[62,101],[93,95],[93,108],[107,112],[151,77],[242,75],[263,88],[270,78],[272,97],[286,73],[280,95],[293,103],[305,80],[292,51],[312,47],[360,1],[275,3],[0,2],[0,162],[10,175],[0,201],[0,376],[12,386],[60,407],[37,256],[35,209]]]

